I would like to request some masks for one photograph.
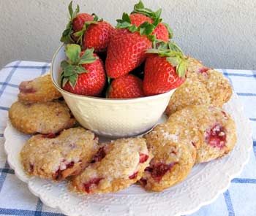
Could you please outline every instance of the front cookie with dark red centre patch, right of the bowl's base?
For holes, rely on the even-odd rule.
[[[162,191],[184,180],[190,173],[194,160],[182,142],[148,143],[154,158],[145,169],[140,184],[146,190]]]

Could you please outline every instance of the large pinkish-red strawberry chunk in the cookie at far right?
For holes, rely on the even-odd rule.
[[[225,128],[220,125],[215,125],[210,131],[206,131],[206,142],[212,147],[224,147],[226,143]]]

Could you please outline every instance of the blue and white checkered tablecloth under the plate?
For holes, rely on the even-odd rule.
[[[46,207],[29,192],[26,183],[15,177],[4,153],[4,128],[8,109],[17,100],[18,85],[31,80],[50,69],[49,63],[13,61],[0,71],[0,215],[62,215],[58,210]],[[225,74],[244,104],[253,131],[253,152],[241,175],[232,180],[230,188],[214,203],[192,214],[199,215],[256,215],[256,71],[225,70]],[[221,180],[219,180],[221,181]]]

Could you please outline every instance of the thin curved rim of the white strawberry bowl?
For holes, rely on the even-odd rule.
[[[57,88],[57,90],[59,90],[61,93],[65,93],[65,94],[67,94],[69,96],[75,96],[75,97],[80,98],[80,99],[91,99],[93,101],[132,102],[132,101],[148,101],[148,100],[152,100],[152,99],[162,98],[162,97],[165,97],[165,96],[169,95],[170,93],[173,93],[174,90],[176,90],[176,88],[173,88],[172,90],[169,90],[169,91],[167,91],[165,93],[160,93],[160,94],[157,94],[157,95],[154,95],[154,96],[145,96],[145,97],[140,97],[140,98],[134,98],[134,99],[107,99],[107,98],[99,98],[99,97],[94,97],[94,96],[83,96],[83,95],[78,95],[78,94],[75,94],[75,93],[70,93],[67,90],[62,89],[59,86],[59,83],[57,83],[56,80],[54,80],[54,78],[53,78],[53,63],[54,63],[54,61],[56,59],[56,56],[59,53],[59,50],[61,50],[61,47],[63,47],[64,45],[65,44],[62,43],[58,47],[58,49],[54,53],[53,58],[52,58],[52,60],[50,62],[50,77],[51,77],[51,80],[52,80],[53,85],[55,86],[55,88]]]

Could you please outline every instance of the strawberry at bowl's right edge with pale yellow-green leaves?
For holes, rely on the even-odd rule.
[[[187,62],[179,47],[173,43],[161,43],[146,58],[143,91],[146,96],[165,93],[185,81]]]

